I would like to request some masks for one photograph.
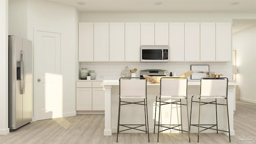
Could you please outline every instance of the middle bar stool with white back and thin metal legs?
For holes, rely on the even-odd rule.
[[[190,142],[190,129],[188,123],[188,131],[183,130],[182,128],[182,105],[187,108],[187,119],[188,119],[188,79],[187,78],[161,78],[160,79],[160,96],[156,96],[156,103],[159,102],[159,117],[158,124],[156,124],[156,110],[155,110],[155,122],[154,122],[154,133],[155,127],[158,126],[158,136],[157,142],[159,141],[159,132],[165,130],[179,130],[182,133],[188,132],[188,138]],[[159,101],[157,100],[159,98]],[[162,99],[171,100],[171,102],[162,101]],[[186,104],[182,104],[181,100],[186,99]],[[180,118],[181,124],[160,124],[160,110],[162,105],[166,104],[176,104],[180,105]],[[156,105],[157,106],[157,105]],[[181,126],[181,128],[179,128]],[[159,130],[159,127],[165,128],[164,130]]]

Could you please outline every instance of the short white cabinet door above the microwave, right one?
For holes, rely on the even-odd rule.
[[[169,24],[166,22],[155,23],[155,45],[169,45]]]

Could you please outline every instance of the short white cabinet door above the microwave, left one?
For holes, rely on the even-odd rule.
[[[155,45],[155,24],[150,23],[141,23],[141,45],[142,46],[154,46]]]

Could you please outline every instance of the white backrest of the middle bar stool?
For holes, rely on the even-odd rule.
[[[187,96],[187,78],[161,78],[160,96]]]

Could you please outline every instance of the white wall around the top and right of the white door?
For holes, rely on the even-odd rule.
[[[76,115],[77,21],[74,7],[44,0],[28,1],[28,39],[33,40],[34,28],[61,33],[61,74],[63,76],[63,116]]]

